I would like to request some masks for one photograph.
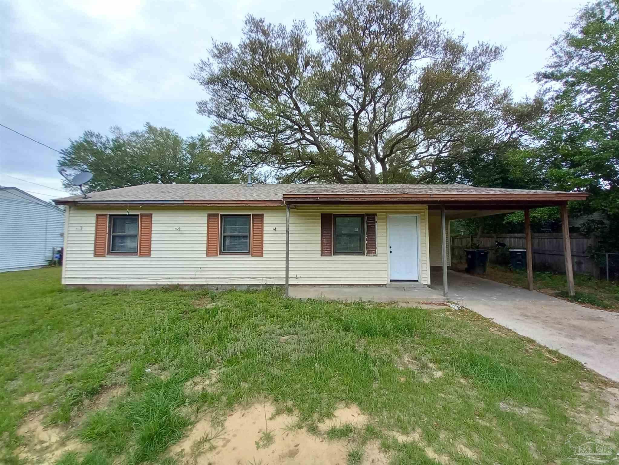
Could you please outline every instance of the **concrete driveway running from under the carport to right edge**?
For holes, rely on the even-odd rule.
[[[431,276],[442,289],[440,272]],[[619,381],[619,313],[449,271],[449,300]]]

